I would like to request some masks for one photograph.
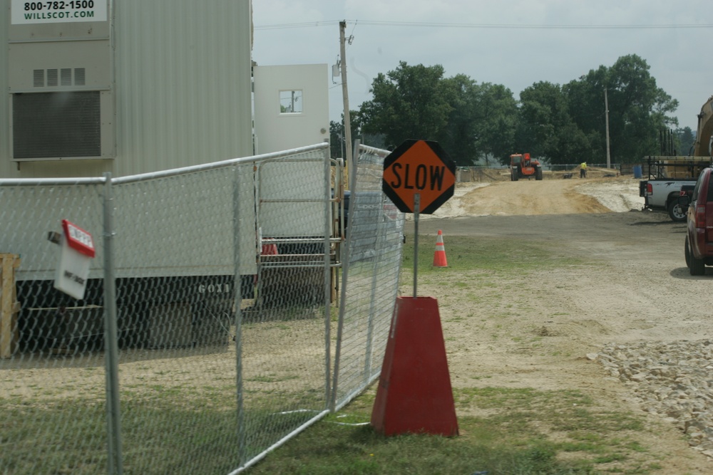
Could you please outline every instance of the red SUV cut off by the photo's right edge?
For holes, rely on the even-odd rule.
[[[692,276],[713,266],[713,168],[704,168],[690,197],[686,214],[686,265]],[[681,200],[684,200],[683,202]],[[686,197],[680,197],[682,205]]]

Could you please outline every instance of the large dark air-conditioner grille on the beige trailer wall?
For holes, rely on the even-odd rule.
[[[57,78],[57,70],[48,69],[48,85],[52,71]],[[13,94],[14,158],[100,156],[100,95],[99,91]]]

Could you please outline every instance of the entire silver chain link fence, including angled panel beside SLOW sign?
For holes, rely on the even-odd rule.
[[[341,236],[327,153],[0,179],[0,474],[237,473],[374,380],[403,215],[361,147]],[[62,218],[94,236],[81,299]]]

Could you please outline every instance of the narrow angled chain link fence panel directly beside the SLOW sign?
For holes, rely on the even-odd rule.
[[[334,363],[335,408],[374,381],[384,360],[404,242],[404,213],[381,192],[388,154],[365,145],[357,150]]]

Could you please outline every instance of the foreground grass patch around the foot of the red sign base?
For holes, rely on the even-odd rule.
[[[456,390],[453,396],[456,407],[490,414],[458,417],[458,437],[384,437],[368,424],[373,395],[362,395],[269,454],[250,473],[596,474],[608,471],[604,464],[633,461],[646,452],[635,437],[643,429],[640,417],[602,412],[579,392],[486,387]],[[656,469],[633,466],[610,473]]]

